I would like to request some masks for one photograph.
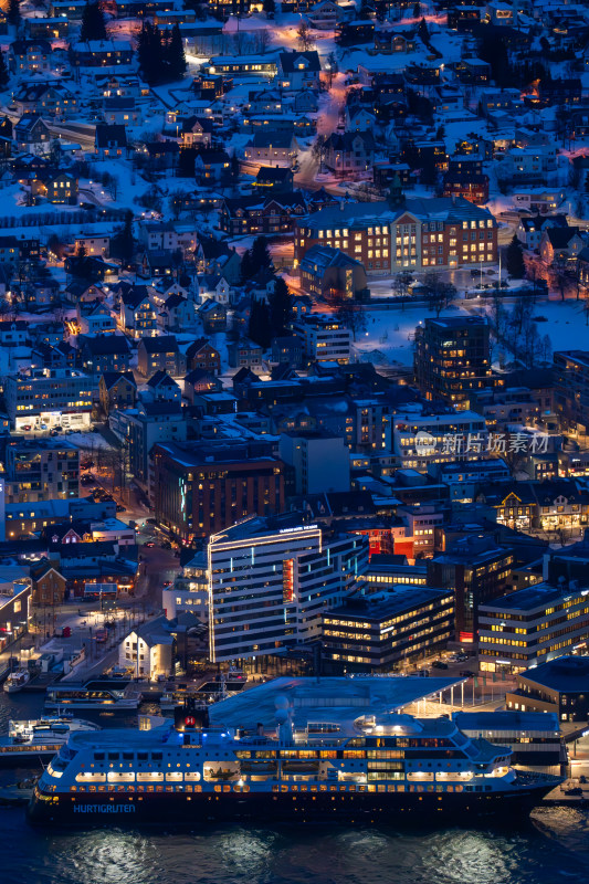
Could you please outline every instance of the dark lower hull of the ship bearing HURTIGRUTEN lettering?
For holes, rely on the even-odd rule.
[[[240,794],[161,793],[154,796],[39,796],[31,799],[33,825],[140,825],[169,823],[388,823],[403,821],[448,824],[476,818],[516,822],[529,812],[554,783],[486,794],[474,793],[334,793]],[[55,800],[56,799],[56,800]]]

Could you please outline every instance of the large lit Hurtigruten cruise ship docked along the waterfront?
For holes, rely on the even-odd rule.
[[[266,733],[211,727],[177,709],[152,730],[72,734],[38,781],[40,824],[172,820],[401,822],[496,814],[522,819],[557,786],[526,775],[511,749],[469,739],[448,717],[361,715],[355,734],[323,723],[296,732],[278,708]]]

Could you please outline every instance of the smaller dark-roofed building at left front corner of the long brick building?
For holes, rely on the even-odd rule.
[[[313,297],[366,298],[366,271],[330,245],[313,245],[301,261],[301,285]]]

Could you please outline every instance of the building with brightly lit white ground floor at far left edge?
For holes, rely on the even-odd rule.
[[[91,380],[70,368],[31,368],[4,380],[7,413],[15,430],[88,430]]]

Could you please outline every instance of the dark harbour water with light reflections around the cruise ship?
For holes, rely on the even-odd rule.
[[[41,704],[1,697],[0,730],[9,717],[39,714]],[[14,771],[7,776],[13,780]],[[160,830],[44,832],[29,829],[21,809],[0,809],[0,883],[589,884],[587,813],[546,809],[516,831],[403,831],[391,822],[180,832],[162,820]]]

